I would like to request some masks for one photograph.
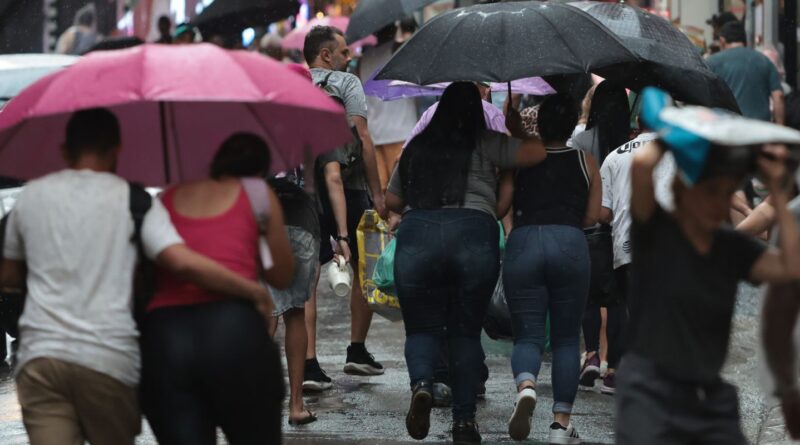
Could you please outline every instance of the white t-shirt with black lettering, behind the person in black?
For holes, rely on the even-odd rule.
[[[642,133],[636,139],[617,148],[606,156],[600,168],[603,180],[603,202],[605,208],[614,212],[611,223],[614,238],[614,268],[631,262],[631,163],[633,151],[658,138],[656,133]],[[656,200],[665,210],[673,208],[672,180],[675,177],[675,159],[669,152],[653,172]]]

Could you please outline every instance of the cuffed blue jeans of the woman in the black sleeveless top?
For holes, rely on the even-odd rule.
[[[506,245],[503,285],[514,331],[514,380],[536,382],[549,310],[554,413],[571,413],[578,391],[589,263],[583,231],[570,226],[522,226],[511,232]]]

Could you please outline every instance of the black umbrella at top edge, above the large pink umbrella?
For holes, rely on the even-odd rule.
[[[206,38],[215,34],[230,35],[286,19],[299,10],[297,0],[216,0],[193,24]]]

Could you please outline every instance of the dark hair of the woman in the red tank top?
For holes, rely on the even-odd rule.
[[[235,133],[225,140],[211,161],[211,177],[263,177],[269,172],[272,157],[261,137],[252,133]]]

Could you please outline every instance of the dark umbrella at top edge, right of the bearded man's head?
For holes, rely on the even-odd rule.
[[[434,3],[436,0],[361,0],[350,17],[345,38],[348,43],[357,42],[381,30],[395,20],[402,19],[414,11]]]

